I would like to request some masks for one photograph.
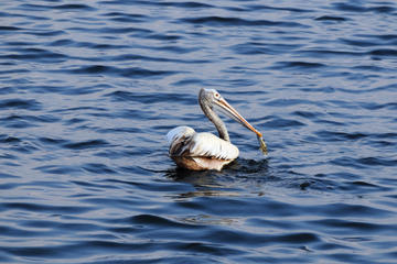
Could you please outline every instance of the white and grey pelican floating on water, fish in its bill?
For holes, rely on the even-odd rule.
[[[260,150],[267,154],[262,134],[250,125],[219,92],[202,88],[198,92],[198,103],[204,114],[215,125],[219,138],[207,132],[196,133],[189,127],[178,127],[171,130],[167,134],[170,144],[169,155],[178,166],[192,170],[221,170],[237,158],[238,147],[232,144],[226,125],[214,111],[214,107],[256,133]]]

